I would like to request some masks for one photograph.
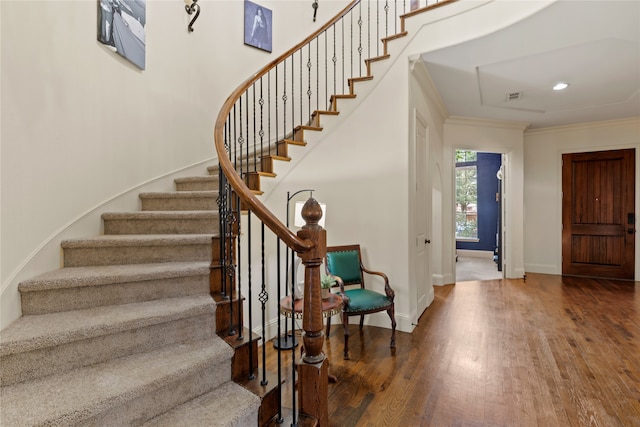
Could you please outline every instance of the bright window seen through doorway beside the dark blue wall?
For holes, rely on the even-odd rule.
[[[456,150],[456,239],[478,238],[478,165],[475,151]]]

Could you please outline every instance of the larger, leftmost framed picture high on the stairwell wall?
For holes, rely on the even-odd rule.
[[[144,70],[147,0],[98,0],[98,41]]]

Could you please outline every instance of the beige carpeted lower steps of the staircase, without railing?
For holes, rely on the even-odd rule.
[[[256,425],[232,381],[210,295],[218,181],[178,179],[103,215],[104,235],[62,243],[64,267],[20,284],[0,333],[0,424]]]

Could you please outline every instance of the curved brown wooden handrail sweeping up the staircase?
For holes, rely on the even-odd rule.
[[[283,62],[286,58],[291,56],[293,52],[306,46],[308,43],[322,34],[322,32],[327,30],[336,22],[340,21],[340,19],[342,19],[349,11],[351,11],[351,9],[353,9],[358,3],[360,3],[360,0],[352,1],[333,19],[321,26],[318,30],[316,30],[302,42],[287,50],[278,58],[274,59],[265,67],[263,67],[256,74],[245,80],[244,83],[238,86],[236,90],[234,90],[231,95],[229,95],[225,103],[222,105],[215,123],[214,140],[216,152],[218,154],[218,162],[220,163],[220,167],[227,177],[229,184],[236,190],[240,199],[251,207],[253,213],[258,216],[258,218],[260,218],[264,222],[264,224],[269,227],[269,229],[271,229],[271,231],[273,231],[287,246],[294,249],[296,252],[307,252],[314,247],[314,243],[310,240],[300,239],[298,236],[292,233],[289,228],[287,228],[278,218],[276,218],[275,215],[273,215],[273,213],[271,213],[269,209],[264,206],[262,202],[258,200],[258,198],[251,192],[242,178],[236,173],[233,164],[231,164],[231,160],[229,160],[227,157],[227,151],[224,145],[224,127],[227,121],[227,117],[231,112],[233,106],[252,84],[258,81],[258,79],[260,79],[262,76],[267,74],[269,70],[273,69],[275,66]]]

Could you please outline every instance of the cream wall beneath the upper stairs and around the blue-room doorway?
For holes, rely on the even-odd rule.
[[[522,170],[522,124],[486,124],[468,128],[450,126],[452,140],[447,142],[441,108],[430,101],[411,96],[418,83],[410,80],[410,59],[416,54],[446,47],[469,38],[495,31],[535,13],[548,2],[524,2],[514,6],[512,2],[458,2],[421,15],[407,23],[409,36],[390,44],[391,59],[376,62],[372,66],[373,81],[358,83],[358,98],[353,104],[340,104],[340,116],[334,122],[325,121],[321,135],[308,134],[308,145],[303,152],[294,155],[265,197],[265,204],[284,215],[286,192],[302,188],[316,190],[314,197],[327,203],[327,241],[329,245],[360,243],[364,248],[364,261],[370,268],[388,274],[396,291],[396,320],[398,329],[411,331],[415,314],[415,283],[411,283],[412,266],[409,262],[412,237],[409,200],[410,180],[410,123],[414,108],[418,108],[429,123],[430,143],[433,153],[430,164],[438,170],[435,175],[442,192],[442,263],[432,266],[443,283],[453,280],[453,204],[451,182],[453,157],[447,157],[454,146],[475,144],[476,147],[500,147],[512,150],[514,167]],[[455,15],[452,18],[452,15]],[[455,22],[454,22],[455,21]],[[463,21],[464,25],[458,22]],[[465,31],[460,31],[464,28]],[[411,81],[411,83],[410,83]],[[324,118],[323,118],[324,120]],[[482,128],[480,137],[478,130]],[[466,129],[466,130],[465,130]],[[469,132],[469,133],[467,133]],[[471,133],[475,139],[464,137]],[[307,135],[307,134],[305,134]],[[450,162],[450,163],[447,163]],[[447,166],[449,165],[449,166]],[[449,168],[449,169],[447,169]],[[515,175],[515,174],[514,174]],[[522,188],[522,174],[514,180]],[[512,208],[520,225],[514,232],[512,245],[515,264],[510,277],[524,273],[522,259],[522,191],[519,202],[514,198]],[[451,209],[450,209],[451,207]],[[450,241],[447,233],[451,235]],[[438,257],[434,257],[438,259]],[[386,314],[367,316],[367,321],[378,326],[389,326]]]

